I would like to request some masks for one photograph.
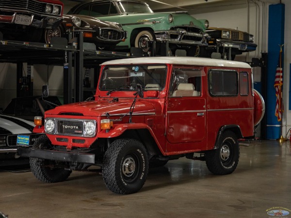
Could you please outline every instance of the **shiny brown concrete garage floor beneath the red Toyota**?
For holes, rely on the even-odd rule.
[[[279,209],[291,218],[290,141],[241,146],[230,175],[213,175],[202,161],[170,161],[150,169],[145,186],[132,195],[112,193],[94,172],[74,171],[65,182],[46,184],[30,171],[5,169],[0,211],[9,218],[268,218]]]

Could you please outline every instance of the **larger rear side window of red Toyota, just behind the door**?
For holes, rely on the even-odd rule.
[[[238,72],[235,70],[210,70],[209,92],[212,96],[238,95]]]

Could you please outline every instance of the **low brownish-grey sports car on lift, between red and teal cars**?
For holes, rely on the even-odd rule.
[[[64,21],[55,29],[44,30],[44,40],[51,37],[65,37],[68,31],[78,36],[83,31],[84,42],[94,43],[97,49],[114,50],[116,44],[125,40],[127,32],[118,23],[101,21],[85,15],[64,15]]]

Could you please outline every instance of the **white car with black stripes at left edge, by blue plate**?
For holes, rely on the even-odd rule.
[[[3,115],[0,112],[0,166],[12,164],[16,158],[17,147],[32,146],[42,134],[33,133],[34,124],[31,121]]]

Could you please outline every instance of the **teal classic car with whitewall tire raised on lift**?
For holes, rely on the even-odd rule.
[[[207,46],[208,20],[197,20],[187,12],[154,13],[148,4],[136,0],[89,0],[74,6],[68,14],[87,15],[122,24],[128,38],[116,49],[141,47],[148,41],[168,41],[171,49],[195,52],[197,46]],[[191,54],[188,54],[191,55]]]

